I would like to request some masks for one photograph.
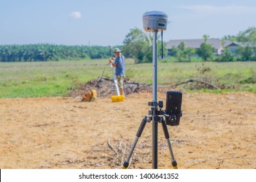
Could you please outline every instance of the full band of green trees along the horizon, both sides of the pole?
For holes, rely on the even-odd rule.
[[[242,46],[236,49],[234,55],[228,49],[224,49],[219,56],[214,55],[214,47],[207,43],[208,36],[204,35],[205,42],[199,49],[186,47],[181,42],[178,47],[173,47],[171,51],[163,49],[158,40],[158,55],[163,50],[164,57],[171,57],[179,62],[190,62],[192,60],[215,60],[215,61],[235,61],[235,60],[256,60],[256,28],[250,27],[246,31],[239,32],[236,36],[224,36],[223,44],[226,40],[239,42]],[[158,38],[160,39],[160,38]],[[132,58],[135,63],[152,62],[152,37],[145,34],[141,29],[134,28],[124,38],[123,45],[115,46],[122,49],[126,58]],[[21,62],[21,61],[48,61],[48,60],[74,60],[74,59],[107,59],[111,56],[109,46],[85,46],[85,45],[53,45],[53,44],[28,44],[28,45],[0,45],[0,61]]]

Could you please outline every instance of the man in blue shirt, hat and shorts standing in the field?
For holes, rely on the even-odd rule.
[[[117,75],[117,83],[119,86],[119,91],[121,95],[124,95],[124,77],[125,77],[125,65],[124,65],[124,56],[121,53],[122,51],[119,48],[115,48],[115,58],[109,59],[109,63],[115,67],[115,75]],[[113,63],[112,60],[115,60]]]

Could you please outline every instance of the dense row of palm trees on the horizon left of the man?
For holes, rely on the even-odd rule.
[[[109,47],[85,45],[0,45],[1,62],[27,62],[48,60],[106,59]]]

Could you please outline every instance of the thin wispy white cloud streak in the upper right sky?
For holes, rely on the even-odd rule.
[[[192,10],[193,12],[221,13],[221,14],[250,13],[250,12],[256,11],[256,7],[236,6],[236,5],[230,5],[230,6],[194,5],[194,6],[180,6],[180,8],[185,10]]]

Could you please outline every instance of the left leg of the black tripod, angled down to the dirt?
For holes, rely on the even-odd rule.
[[[139,125],[139,129],[137,131],[134,143],[132,144],[132,148],[130,149],[130,152],[126,158],[126,160],[124,161],[124,164],[122,166],[122,169],[126,169],[129,166],[129,162],[130,162],[130,158],[132,157],[132,153],[134,152],[135,146],[137,144],[137,141],[139,140],[139,137],[141,137],[141,134],[143,132],[143,129],[145,128],[146,123],[149,121],[149,118],[147,118],[147,116],[145,116],[145,118],[143,118],[143,120],[141,121],[141,125]]]

